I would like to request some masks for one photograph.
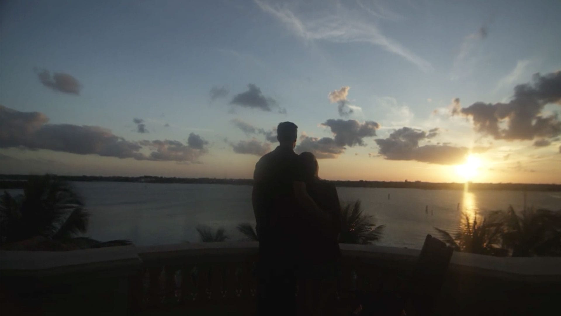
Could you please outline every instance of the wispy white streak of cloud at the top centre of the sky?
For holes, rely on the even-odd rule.
[[[292,31],[296,36],[307,41],[325,41],[332,43],[369,43],[396,54],[423,71],[433,70],[433,66],[401,44],[386,37],[372,22],[370,17],[361,18],[356,11],[348,10],[339,3],[336,7],[320,11],[314,8],[313,14],[306,18],[298,17],[288,8],[287,3],[270,4],[262,0],[254,0],[257,6],[269,13]],[[333,12],[337,12],[336,14]]]

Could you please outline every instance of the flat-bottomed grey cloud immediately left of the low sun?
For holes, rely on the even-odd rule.
[[[416,160],[442,165],[461,164],[465,161],[469,152],[466,147],[419,146],[420,141],[429,138],[435,132],[431,129],[427,134],[424,130],[403,127],[391,133],[388,138],[375,140],[379,147],[378,154],[387,160]]]

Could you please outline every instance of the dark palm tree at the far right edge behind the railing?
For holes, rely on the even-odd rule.
[[[503,245],[517,256],[561,256],[561,213],[512,206],[503,215]]]

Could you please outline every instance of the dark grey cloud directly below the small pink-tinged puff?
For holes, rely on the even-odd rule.
[[[338,146],[365,146],[362,138],[376,136],[376,129],[380,124],[374,121],[359,123],[357,120],[329,119],[321,125],[327,126],[335,135],[335,143]]]

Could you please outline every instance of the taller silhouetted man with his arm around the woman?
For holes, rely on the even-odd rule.
[[[255,165],[252,203],[259,238],[257,314],[296,314],[298,243],[304,218],[327,225],[328,216],[306,192],[300,157],[294,152],[298,127],[277,127],[279,146]]]

